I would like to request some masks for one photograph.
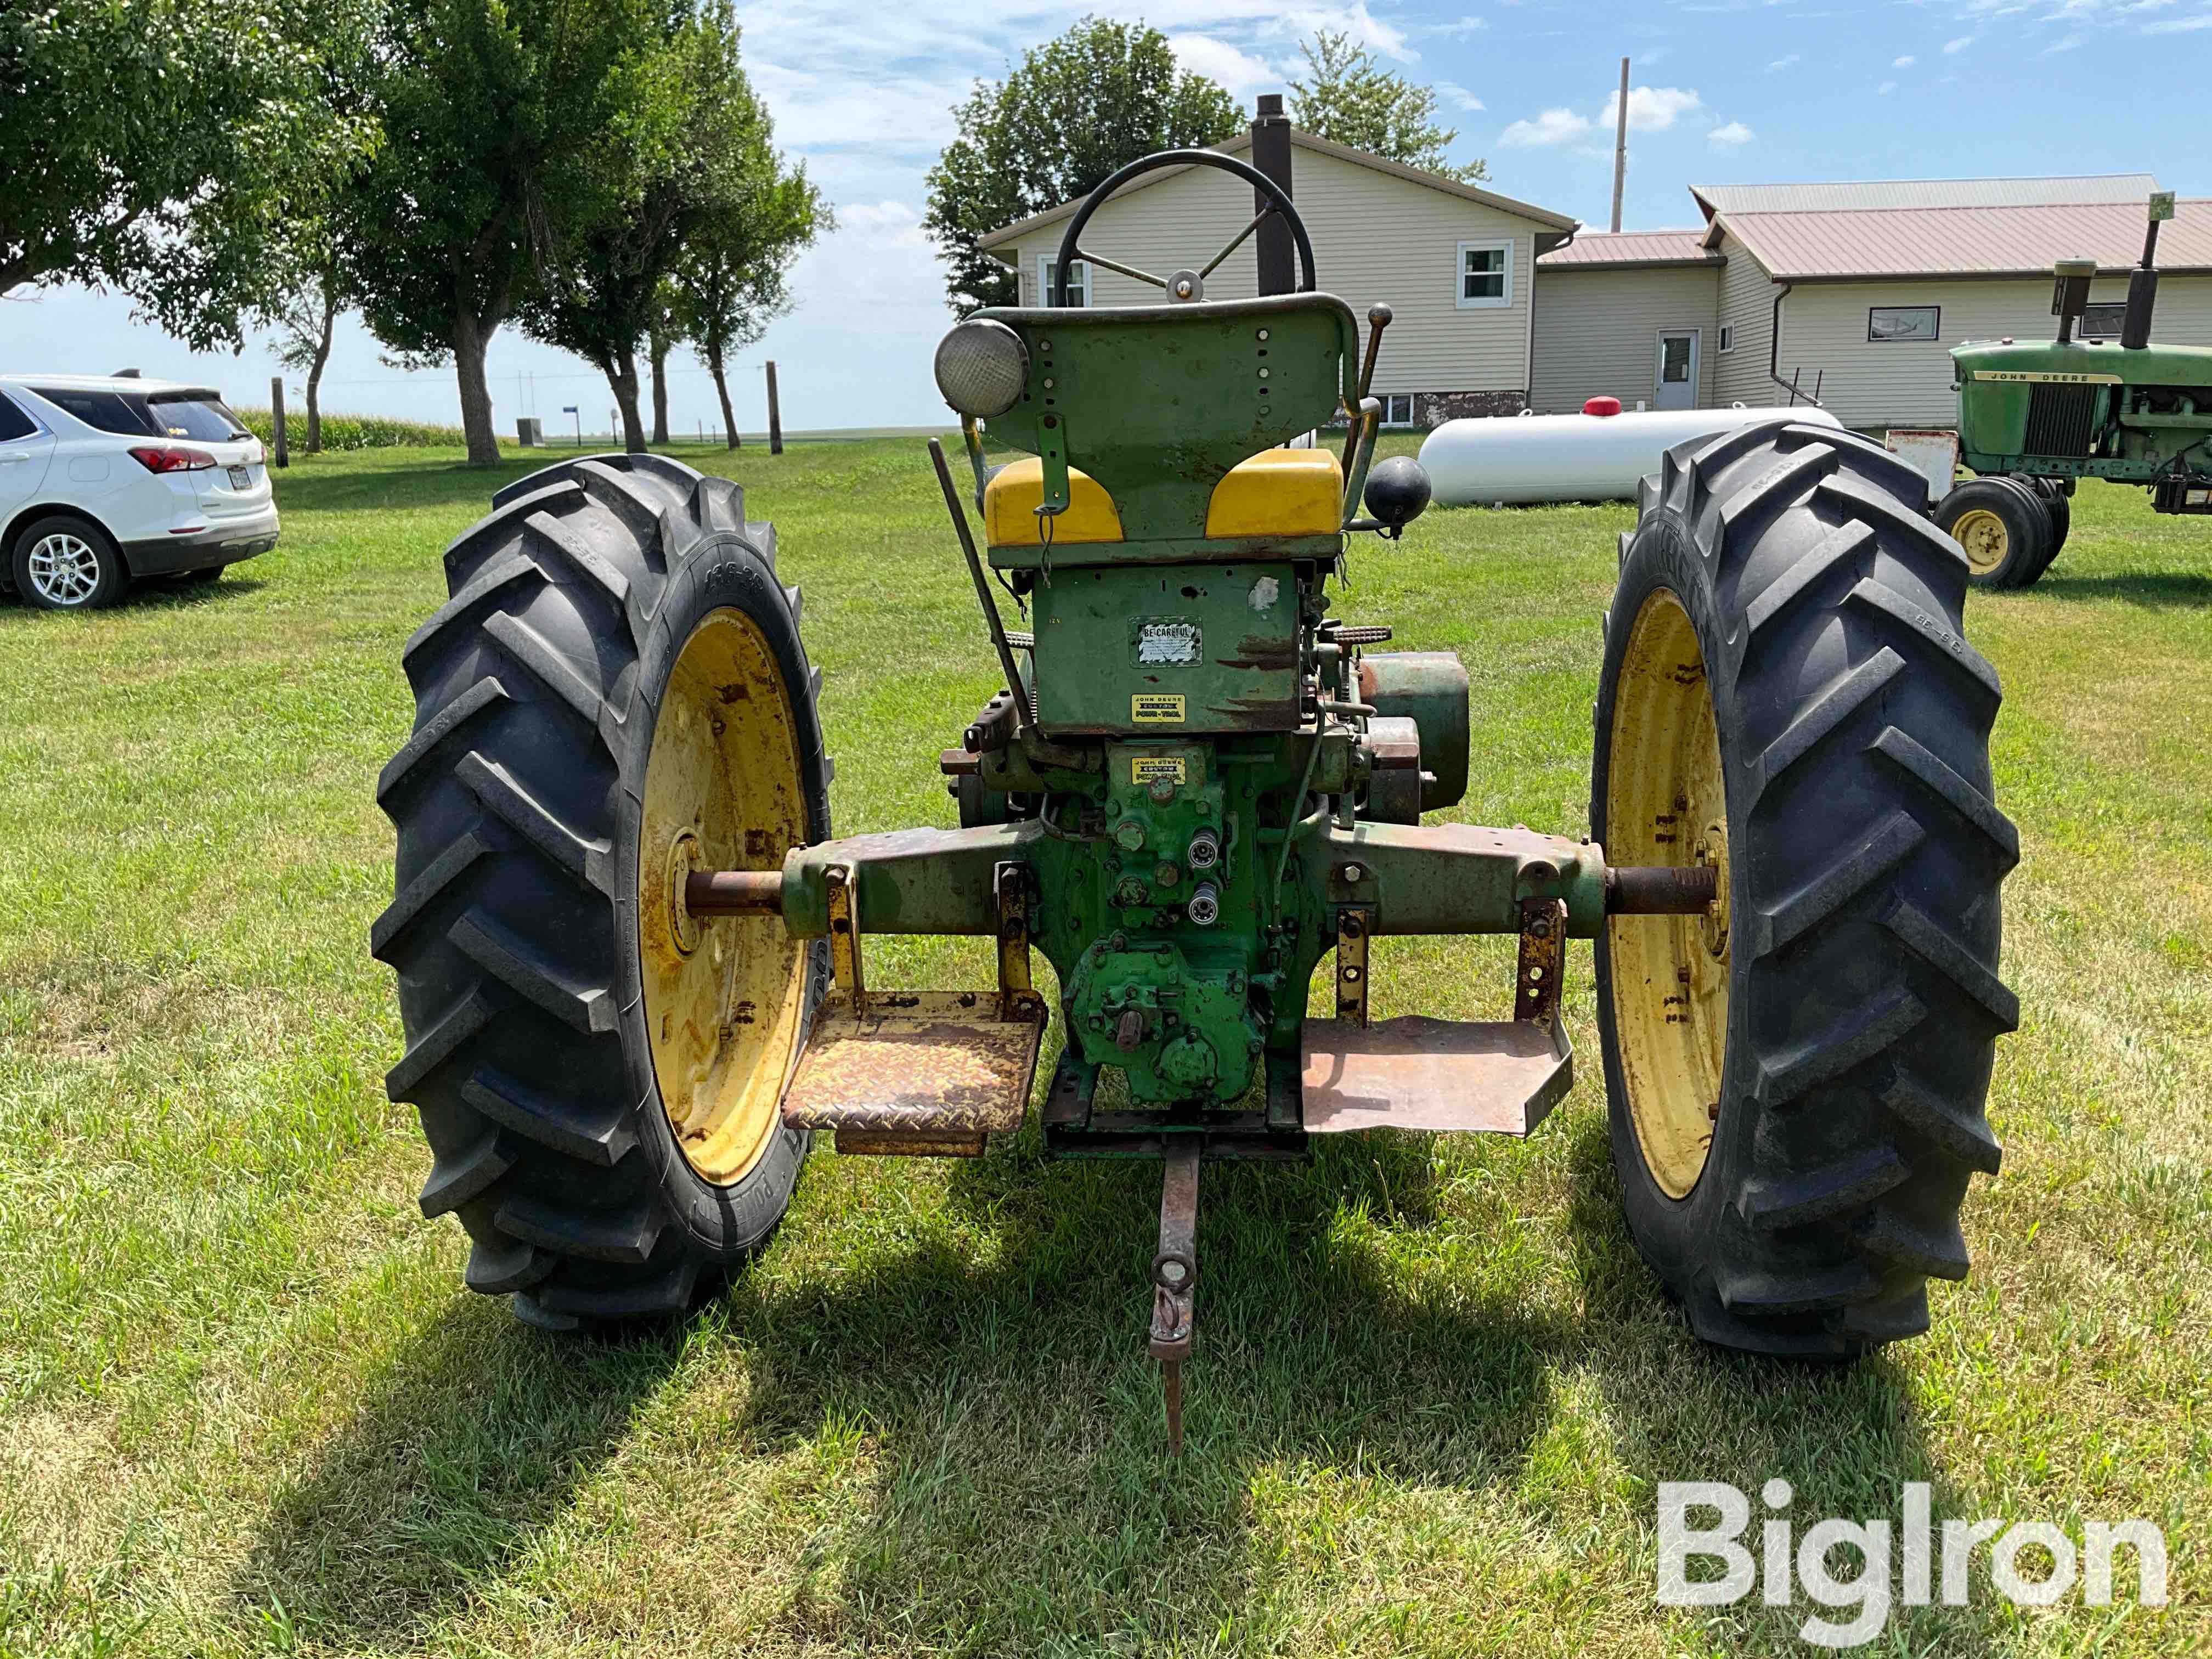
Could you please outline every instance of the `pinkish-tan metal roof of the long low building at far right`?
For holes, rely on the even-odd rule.
[[[2124,272],[2143,252],[2141,201],[2008,208],[1723,212],[1725,228],[1781,283],[1869,276],[2048,276],[2057,259]],[[2159,226],[2159,270],[2212,270],[2212,199],[2174,204]]]

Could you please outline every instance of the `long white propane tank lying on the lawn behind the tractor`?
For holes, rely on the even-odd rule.
[[[1595,414],[1610,405],[1613,414]],[[1637,480],[1688,438],[1712,438],[1761,420],[1840,427],[1827,409],[1650,409],[1619,414],[1617,398],[1590,398],[1579,416],[1447,420],[1420,445],[1420,465],[1440,507],[1506,502],[1635,500]]]

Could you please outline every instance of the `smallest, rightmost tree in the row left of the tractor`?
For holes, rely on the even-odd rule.
[[[677,263],[675,321],[714,376],[721,429],[737,449],[730,354],[752,345],[790,310],[785,274],[816,237],[836,228],[805,168],[785,168],[761,128],[761,150],[730,204],[708,217]]]

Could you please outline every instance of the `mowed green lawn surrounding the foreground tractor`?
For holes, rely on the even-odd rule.
[[[953,821],[995,686],[914,440],[679,449],[781,529],[838,830]],[[2022,595],[2022,865],[1975,1274],[1880,1358],[1697,1345],[1619,1221],[1590,1020],[1526,1144],[1345,1139],[1206,1175],[1190,1449],[1144,1356],[1159,1172],[818,1152],[692,1323],[555,1338],[425,1223],[369,920],[438,553],[529,469],[307,460],[283,546],[86,617],[0,606],[0,1655],[1792,1652],[1655,1606],[1661,1480],[1792,1515],[2150,1517],[2172,1608],[1898,1610],[1880,1652],[2212,1646],[2212,520],[2090,484]],[[1473,677],[1453,816],[1586,830],[1626,507],[1431,513],[1338,611]],[[1500,1018],[1498,942],[1378,947],[1385,1013]],[[878,940],[878,984],[987,984]],[[1763,1511],[1754,1509],[1756,1515]],[[1986,1555],[1982,1557],[1986,1564]]]

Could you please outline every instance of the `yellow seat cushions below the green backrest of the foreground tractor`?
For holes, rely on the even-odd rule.
[[[1024,456],[993,473],[982,491],[984,538],[991,546],[1035,546],[1044,462]],[[1345,471],[1327,449],[1261,449],[1214,484],[1206,535],[1336,535],[1345,522]],[[1053,524],[1053,544],[1119,542],[1121,513],[1091,473],[1068,467],[1068,511]]]

